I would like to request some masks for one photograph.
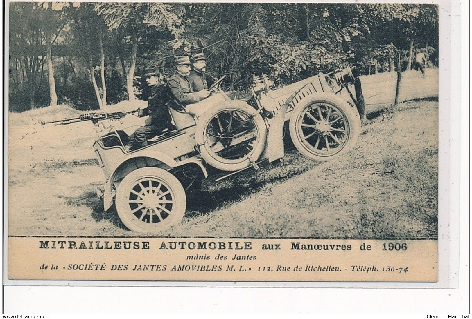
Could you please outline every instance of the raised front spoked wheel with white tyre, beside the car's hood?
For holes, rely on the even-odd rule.
[[[290,118],[290,138],[304,156],[331,160],[349,152],[361,132],[357,110],[329,93],[313,94],[295,107]]]

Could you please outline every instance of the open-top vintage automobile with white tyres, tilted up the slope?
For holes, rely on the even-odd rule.
[[[106,177],[105,211],[113,203],[132,231],[156,232],[179,223],[185,189],[193,173],[207,167],[234,172],[257,169],[284,156],[284,123],[291,140],[312,160],[331,160],[356,144],[361,121],[356,108],[334,92],[352,77],[347,68],[275,88],[267,76],[254,78],[249,100],[231,100],[221,89],[201,101],[198,118],[170,109],[177,130],[126,151],[127,134],[114,129],[93,144]],[[219,88],[223,78],[214,85]]]

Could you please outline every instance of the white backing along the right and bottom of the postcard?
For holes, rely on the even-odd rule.
[[[324,2],[324,1],[323,1]],[[347,1],[346,1],[347,2]],[[367,2],[367,1],[363,1]],[[370,2],[370,1],[369,1]],[[378,1],[375,1],[378,2]],[[407,1],[403,1],[407,2]],[[408,1],[410,2],[410,1]],[[438,1],[445,3],[447,1]],[[426,2],[430,3],[430,1]],[[470,218],[469,218],[469,32],[470,4],[462,0],[451,1],[450,48],[451,65],[443,63],[441,72],[450,72],[451,83],[441,83],[441,90],[450,87],[451,105],[451,201],[459,206],[449,220],[439,220],[441,227],[449,228],[450,237],[444,241],[439,236],[439,263],[450,265],[442,269],[449,274],[448,289],[418,288],[267,288],[267,287],[44,287],[4,286],[4,313],[48,314],[48,318],[83,318],[84,316],[51,315],[53,313],[123,314],[166,312],[263,312],[263,313],[420,313],[421,315],[396,315],[396,318],[427,318],[427,314],[468,314],[470,312]],[[443,27],[443,25],[441,25]],[[460,32],[459,32],[460,27]],[[443,40],[442,38],[441,40]],[[442,51],[442,56],[444,51]],[[458,56],[461,59],[458,59]],[[460,63],[460,64],[459,64]],[[4,70],[5,71],[5,70]],[[443,80],[444,73],[440,79]],[[459,79],[461,79],[459,84]],[[460,97],[459,97],[460,85]],[[461,103],[461,112],[455,105]],[[441,100],[440,100],[441,105]],[[439,119],[442,120],[441,117]],[[458,125],[460,121],[460,126]],[[460,138],[459,138],[460,133]],[[459,144],[460,141],[460,144]],[[460,187],[459,163],[460,154]],[[441,168],[440,168],[441,169]],[[4,171],[4,174],[6,172]],[[455,183],[452,184],[452,183]],[[460,202],[458,198],[460,195]],[[457,218],[460,216],[460,220]],[[440,231],[441,233],[441,231]],[[447,239],[447,237],[446,237]],[[441,247],[445,248],[441,251]],[[459,248],[459,249],[457,249]],[[5,268],[4,268],[5,271]],[[68,284],[63,282],[63,284]],[[74,283],[76,284],[76,283]],[[362,283],[359,284],[362,286]],[[365,286],[365,285],[364,285]],[[87,315],[89,318],[112,316]],[[124,318],[113,315],[113,318]],[[129,318],[130,316],[126,316]],[[329,316],[332,317],[332,316]],[[343,317],[346,317],[344,315]],[[354,316],[359,317],[359,316]],[[362,318],[379,316],[362,316]],[[133,318],[133,317],[131,317]],[[143,316],[142,318],[147,318]],[[322,316],[324,318],[324,316]],[[336,317],[337,318],[337,317]],[[382,316],[386,318],[386,316]]]

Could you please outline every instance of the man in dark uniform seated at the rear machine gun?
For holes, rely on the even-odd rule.
[[[150,72],[146,74],[146,82],[151,86],[151,94],[148,99],[148,107],[140,109],[138,116],[149,116],[144,121],[144,126],[136,129],[129,136],[129,150],[134,151],[138,148],[147,146],[148,139],[163,133],[164,131],[172,131],[175,127],[171,123],[167,103],[169,102],[169,92],[161,74],[158,72]]]

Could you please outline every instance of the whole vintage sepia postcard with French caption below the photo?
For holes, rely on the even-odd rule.
[[[438,281],[438,5],[6,18],[10,282]]]

